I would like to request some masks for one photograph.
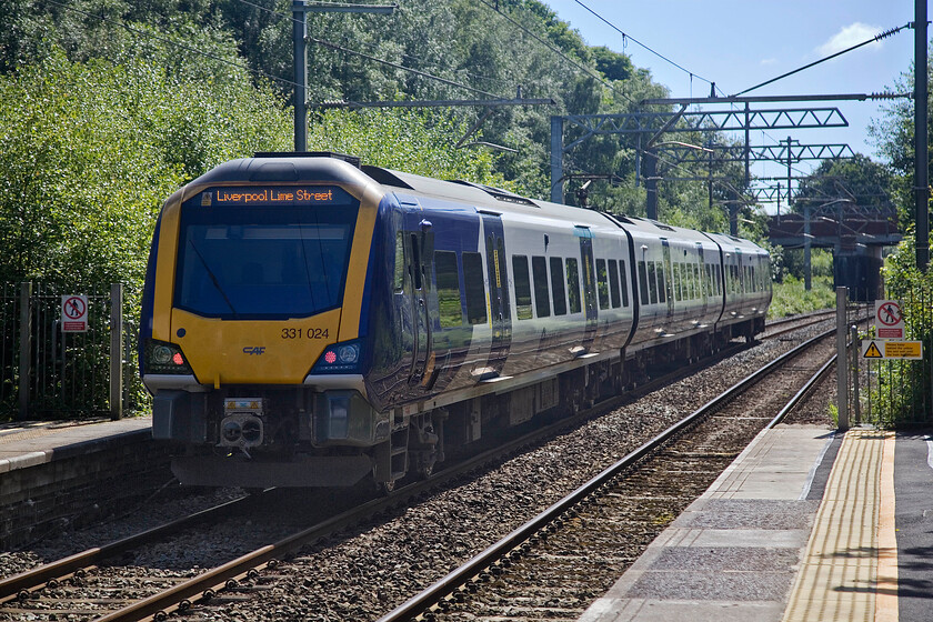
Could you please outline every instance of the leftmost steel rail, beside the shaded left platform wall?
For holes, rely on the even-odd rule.
[[[129,535],[109,544],[94,546],[92,549],[81,551],[80,553],[62,558],[58,561],[42,564],[38,568],[2,579],[0,580],[0,602],[6,602],[13,596],[21,599],[28,595],[28,590],[38,588],[42,583],[67,579],[82,569],[96,565],[101,560],[118,555],[124,551],[139,546],[140,544],[162,538],[163,535],[172,533],[180,528],[211,520],[215,514],[225,513],[231,508],[238,506],[249,499],[251,498],[241,496],[240,499],[227,501],[220,505],[201,510],[200,512],[195,512],[175,521]]]

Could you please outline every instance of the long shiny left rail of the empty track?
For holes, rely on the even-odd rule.
[[[719,407],[723,405],[729,400],[732,400],[733,398],[745,391],[749,387],[751,387],[752,384],[754,384],[755,382],[774,371],[778,367],[783,365],[784,363],[794,359],[795,357],[804,352],[807,348],[813,345],[815,342],[825,339],[834,333],[835,329],[825,331],[803,342],[793,350],[785,352],[784,354],[771,361],[754,373],[748,375],[745,379],[739,381],[725,392],[710,400],[700,409],[698,409],[686,418],[682,419],[680,422],[668,428],[650,441],[642,444],[640,448],[635,449],[634,451],[632,451],[631,453],[629,453],[628,455],[609,466],[608,469],[603,470],[600,474],[595,475],[590,481],[578,488],[575,491],[573,491],[562,500],[558,501],[556,503],[544,510],[538,516],[531,519],[522,526],[515,529],[514,531],[505,535],[495,544],[489,546],[486,550],[468,561],[465,564],[461,565],[443,579],[430,585],[420,594],[412,596],[407,602],[402,603],[391,612],[380,618],[378,622],[400,622],[403,620],[412,620],[417,615],[428,611],[432,605],[440,602],[444,596],[454,592],[461,585],[465,584],[470,579],[476,576],[484,569],[491,566],[498,560],[503,559],[510,551],[516,549],[522,543],[534,536],[536,533],[541,532],[543,529],[546,529],[548,525],[550,525],[561,515],[570,511],[574,505],[578,505],[591,493],[604,485],[610,484],[619,473],[654,452],[659,447],[663,445],[671,438],[681,433],[682,431],[691,427],[693,423],[714,412]]]

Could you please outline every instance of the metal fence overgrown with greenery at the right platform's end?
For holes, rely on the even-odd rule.
[[[844,288],[842,288],[844,289]],[[840,419],[852,424],[885,428],[933,422],[933,287],[917,281],[889,288],[884,299],[896,301],[903,314],[903,337],[892,341],[920,342],[922,359],[889,358],[877,334],[874,303],[846,305],[845,380],[840,379]],[[875,350],[867,351],[872,343]],[[911,349],[907,349],[911,350]]]

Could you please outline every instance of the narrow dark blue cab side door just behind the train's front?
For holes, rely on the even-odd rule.
[[[424,378],[431,353],[431,321],[428,314],[428,297],[431,288],[431,258],[433,257],[433,233],[431,223],[419,213],[407,214],[404,244],[405,270],[411,280],[411,317],[413,352],[409,371],[409,384],[419,384]]]

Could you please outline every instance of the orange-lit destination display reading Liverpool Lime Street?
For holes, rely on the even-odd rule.
[[[201,192],[203,208],[340,205],[353,200],[345,190],[330,185],[241,185]]]

